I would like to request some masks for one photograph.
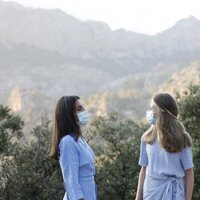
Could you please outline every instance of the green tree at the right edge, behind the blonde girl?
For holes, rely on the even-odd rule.
[[[193,139],[195,171],[194,200],[200,199],[200,84],[191,84],[181,96],[177,94],[180,120]]]

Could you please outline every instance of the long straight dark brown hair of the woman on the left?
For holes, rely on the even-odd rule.
[[[58,145],[61,139],[69,134],[73,134],[77,140],[81,136],[81,129],[77,123],[76,101],[78,96],[63,96],[56,105],[54,130],[52,133],[52,143],[50,158],[58,160]]]

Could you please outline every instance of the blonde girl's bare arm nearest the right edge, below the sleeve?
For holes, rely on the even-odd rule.
[[[194,187],[194,171],[193,168],[185,170],[185,181],[186,181],[186,200],[192,199],[192,192]]]

